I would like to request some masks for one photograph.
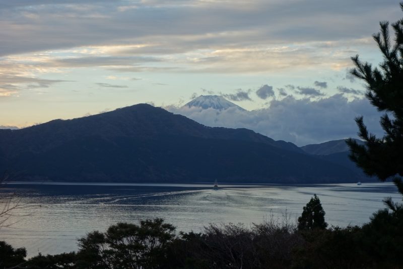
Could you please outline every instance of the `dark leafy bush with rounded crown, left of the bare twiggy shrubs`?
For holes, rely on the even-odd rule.
[[[140,225],[118,223],[106,233],[95,231],[79,240],[77,265],[84,268],[160,268],[175,227],[162,219]]]

